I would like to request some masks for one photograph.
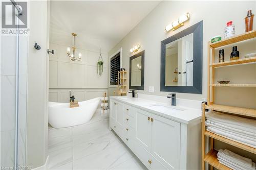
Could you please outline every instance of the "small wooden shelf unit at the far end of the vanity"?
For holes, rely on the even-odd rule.
[[[118,71],[117,79],[118,95],[127,95],[127,71]]]

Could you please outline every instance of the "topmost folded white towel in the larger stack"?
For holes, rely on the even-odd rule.
[[[235,115],[224,114],[216,111],[206,112],[206,117],[216,120],[216,122],[222,122],[234,126],[234,128],[245,128],[252,130],[252,133],[256,133],[256,120],[243,118]]]

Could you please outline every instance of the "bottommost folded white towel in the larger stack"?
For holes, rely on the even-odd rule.
[[[243,138],[240,138],[240,137],[237,137],[237,136],[234,136],[234,135],[231,135],[231,134],[228,134],[228,133],[225,133],[225,132],[213,129],[213,128],[209,128],[209,127],[207,127],[206,130],[209,131],[209,132],[212,132],[214,134],[217,134],[219,136],[225,137],[227,139],[234,140],[234,141],[237,141],[239,143],[248,145],[249,147],[256,148],[256,143],[253,143],[253,144],[251,144],[251,142],[248,143],[247,142],[248,140],[246,140],[246,139],[243,139]]]

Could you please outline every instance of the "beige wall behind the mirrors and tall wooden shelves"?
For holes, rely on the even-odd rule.
[[[207,98],[207,42],[211,37],[216,35],[221,35],[223,37],[226,22],[229,20],[232,20],[234,25],[236,25],[236,34],[244,33],[244,17],[249,9],[255,14],[255,1],[163,1],[112,48],[109,52],[109,56],[122,47],[122,66],[129,70],[129,57],[134,55],[131,54],[129,50],[139,43],[141,48],[138,53],[145,50],[145,90],[138,90],[138,92],[166,96],[168,92],[160,91],[160,41],[203,20],[203,93],[177,93],[177,98],[202,100],[202,98]],[[180,29],[166,33],[164,30],[165,26],[173,20],[176,20],[185,12],[190,13],[190,20],[185,22],[185,25]],[[253,28],[256,28],[255,18]],[[256,44],[255,39],[250,40],[245,44],[236,43],[234,45],[238,45],[240,57],[243,58],[247,53],[256,52],[254,44]],[[225,61],[229,60],[231,48],[232,45],[224,48]],[[217,59],[218,51],[216,51],[216,53]],[[230,81],[232,80],[233,83],[242,81],[256,83],[255,74],[256,64],[248,67],[246,65],[226,67],[216,71],[216,80],[228,79]],[[236,79],[236,76],[238,76],[238,79]],[[129,76],[127,77],[129,78]],[[155,87],[154,93],[148,92],[149,86]],[[109,88],[109,95],[113,95],[114,90],[116,89]],[[215,102],[256,108],[256,88],[219,88],[216,92]],[[215,148],[227,148],[233,152],[251,158],[254,162],[256,161],[255,155],[233,148],[222,142],[216,142]]]

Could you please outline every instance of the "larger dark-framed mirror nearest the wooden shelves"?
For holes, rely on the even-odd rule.
[[[161,91],[202,94],[203,21],[161,41]]]

